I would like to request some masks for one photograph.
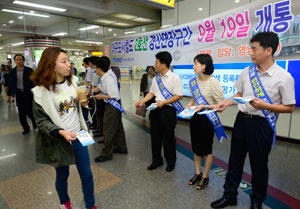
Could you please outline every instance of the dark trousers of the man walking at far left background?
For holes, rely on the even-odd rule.
[[[16,100],[17,100],[17,106],[19,111],[19,121],[23,129],[24,130],[30,129],[30,126],[27,123],[26,116],[28,116],[31,119],[33,128],[36,128],[36,123],[32,113],[32,97],[30,98],[26,97],[24,91],[17,89]]]

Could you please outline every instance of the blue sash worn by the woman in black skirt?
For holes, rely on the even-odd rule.
[[[208,102],[204,99],[204,97],[201,94],[201,91],[199,89],[199,86],[197,84],[196,78],[193,78],[189,82],[190,88],[192,90],[192,94],[194,96],[194,99],[198,105],[209,105]],[[211,112],[208,114],[205,114],[206,117],[209,119],[211,124],[214,127],[215,133],[218,137],[219,142],[222,142],[223,138],[228,140],[228,136],[224,131],[224,128],[221,124],[221,121],[218,117],[218,114],[216,112]]]

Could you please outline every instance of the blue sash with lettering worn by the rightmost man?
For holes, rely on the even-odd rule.
[[[253,90],[253,94],[256,98],[259,98],[263,100],[266,103],[273,104],[269,95],[267,94],[266,90],[264,89],[262,82],[260,81],[257,71],[256,71],[256,65],[252,65],[249,67],[249,78],[250,78],[250,84]],[[272,147],[274,146],[275,139],[276,139],[276,122],[278,114],[274,112],[270,112],[268,110],[262,109],[261,110],[266,117],[268,123],[270,124],[271,128],[274,131],[273,135],[273,142]]]

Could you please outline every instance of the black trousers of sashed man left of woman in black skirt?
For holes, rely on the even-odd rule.
[[[168,165],[176,162],[176,110],[171,106],[164,106],[150,112],[152,162],[162,163],[161,149]]]

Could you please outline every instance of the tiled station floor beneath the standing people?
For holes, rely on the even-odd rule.
[[[178,121],[177,164],[174,171],[165,166],[154,171],[146,167],[151,162],[148,117],[134,114],[133,104],[139,98],[138,81],[122,84],[122,104],[127,116],[123,123],[129,149],[128,155],[115,154],[113,160],[96,164],[102,144],[89,146],[95,181],[96,203],[101,209],[205,209],[222,196],[224,178],[211,172],[209,186],[197,191],[187,184],[194,174],[190,159],[190,136],[187,122]],[[184,99],[185,104],[187,99]],[[35,163],[35,135],[21,134],[22,128],[14,104],[0,96],[0,209],[57,209],[52,167]],[[230,135],[230,131],[228,131]],[[98,138],[96,138],[98,140]],[[230,141],[214,142],[214,168],[226,170]],[[269,158],[269,190],[264,208],[300,208],[300,145],[277,141]],[[216,171],[216,170],[215,170]],[[246,159],[244,180],[249,182],[251,170]],[[69,192],[74,208],[84,208],[81,184],[75,166],[71,166]],[[229,208],[249,208],[248,193],[239,189],[238,205]]]

